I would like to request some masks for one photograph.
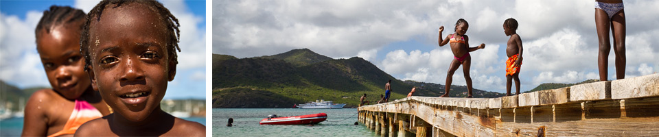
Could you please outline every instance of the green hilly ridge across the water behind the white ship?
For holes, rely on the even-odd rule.
[[[213,55],[213,108],[292,108],[294,103],[316,99],[351,107],[358,105],[363,94],[371,102],[380,100],[389,79],[393,89],[389,100],[406,97],[414,85],[395,79],[362,58],[334,60],[309,49],[255,58],[231,57]],[[466,88],[454,87],[458,87],[455,93],[459,95],[453,97],[466,96],[460,95]],[[496,96],[491,93],[474,89],[476,97]],[[415,95],[440,94],[437,88],[417,90]]]

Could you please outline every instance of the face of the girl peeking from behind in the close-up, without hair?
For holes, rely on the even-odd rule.
[[[80,26],[83,21],[55,25],[50,33],[41,30],[36,49],[41,56],[48,82],[67,99],[78,99],[89,89],[89,76],[84,72],[80,54]]]

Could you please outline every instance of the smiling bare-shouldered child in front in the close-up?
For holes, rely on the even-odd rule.
[[[101,1],[89,12],[80,49],[92,87],[114,113],[84,123],[75,136],[205,136],[204,125],[160,106],[176,74],[178,26],[153,0]]]

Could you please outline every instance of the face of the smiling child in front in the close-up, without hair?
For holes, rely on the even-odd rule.
[[[165,28],[159,14],[141,4],[105,8],[100,21],[90,24],[92,86],[129,121],[160,109],[167,81],[174,79]]]

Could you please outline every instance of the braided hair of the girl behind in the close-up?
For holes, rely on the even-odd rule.
[[[76,21],[84,21],[84,12],[80,9],[71,8],[69,6],[51,5],[49,10],[43,11],[43,16],[39,19],[39,23],[34,29],[36,39],[41,37],[39,32],[46,31],[50,34],[51,29],[56,25],[65,25]],[[82,26],[80,26],[82,29]]]

